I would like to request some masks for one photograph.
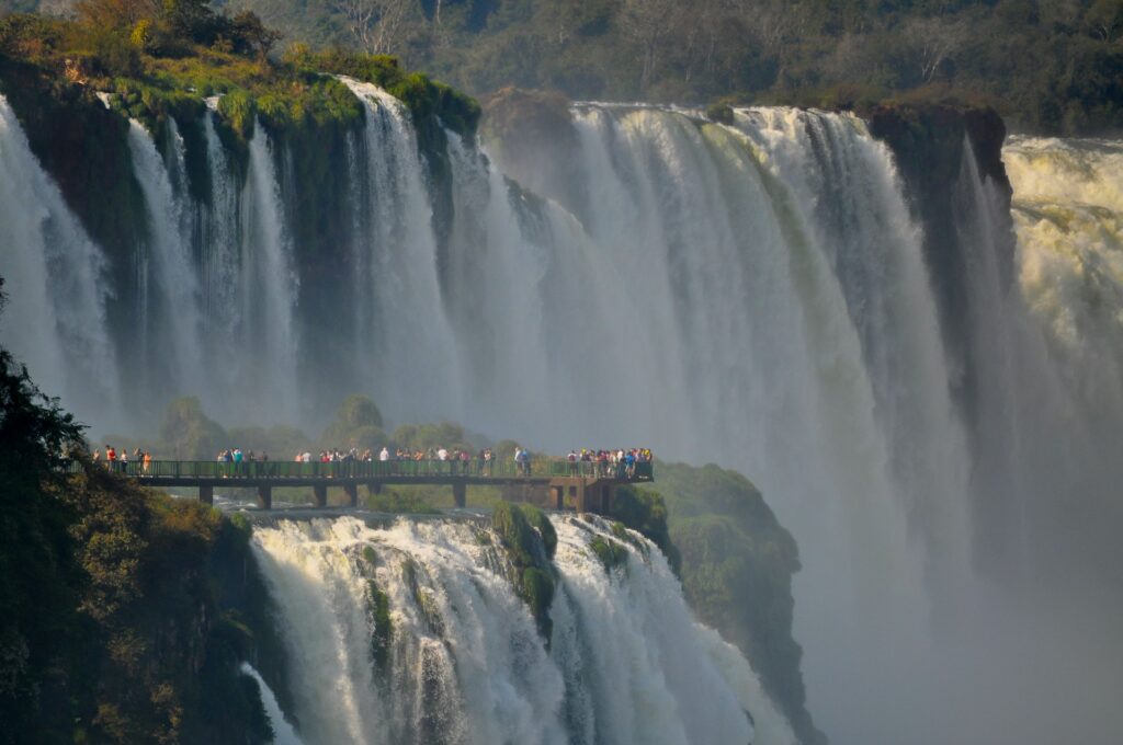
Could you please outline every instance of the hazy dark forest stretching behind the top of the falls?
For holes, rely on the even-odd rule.
[[[393,54],[475,95],[504,86],[575,99],[848,107],[985,104],[1015,128],[1117,131],[1123,0],[230,0],[200,38],[265,55],[307,44]],[[0,0],[133,21],[153,50],[201,3]],[[147,10],[146,10],[147,9]],[[157,10],[159,12],[157,12]],[[152,12],[148,12],[152,11]],[[247,11],[252,11],[247,12]],[[208,11],[209,12],[209,11]],[[100,13],[100,16],[98,16]],[[264,21],[264,26],[263,26]],[[279,37],[272,30],[277,29]],[[166,37],[166,34],[164,35]]]

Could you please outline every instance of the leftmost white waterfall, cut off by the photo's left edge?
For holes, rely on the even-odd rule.
[[[106,322],[106,261],[66,209],[0,95],[0,329],[39,388],[85,421],[120,421],[115,344]]]

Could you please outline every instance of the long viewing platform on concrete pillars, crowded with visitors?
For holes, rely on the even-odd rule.
[[[339,487],[347,495],[347,504],[358,506],[358,488],[366,487],[378,494],[387,485],[430,485],[453,488],[457,507],[467,503],[467,487],[495,486],[523,502],[533,502],[548,509],[572,509],[601,515],[612,513],[613,493],[618,486],[647,482],[655,479],[654,463],[636,462],[631,470],[623,465],[603,465],[596,461],[569,461],[566,458],[535,458],[529,468],[511,460],[345,460],[331,462],[298,461],[243,461],[240,463],[211,460],[153,460],[106,462],[111,471],[136,480],[144,486],[198,488],[199,499],[213,504],[214,489],[257,489],[257,505],[272,509],[273,489],[311,487],[314,504],[328,504],[328,487]],[[80,472],[81,463],[72,463],[71,471]]]

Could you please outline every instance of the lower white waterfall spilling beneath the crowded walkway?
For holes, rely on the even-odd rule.
[[[694,623],[654,544],[620,542],[600,521],[554,524],[548,646],[487,527],[341,517],[255,528],[302,739],[794,742],[743,657]],[[608,571],[594,537],[626,550],[624,564]],[[756,739],[746,709],[767,723]]]

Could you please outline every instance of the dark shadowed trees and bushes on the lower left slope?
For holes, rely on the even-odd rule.
[[[212,552],[236,530],[103,468],[0,349],[0,742],[266,743]]]

